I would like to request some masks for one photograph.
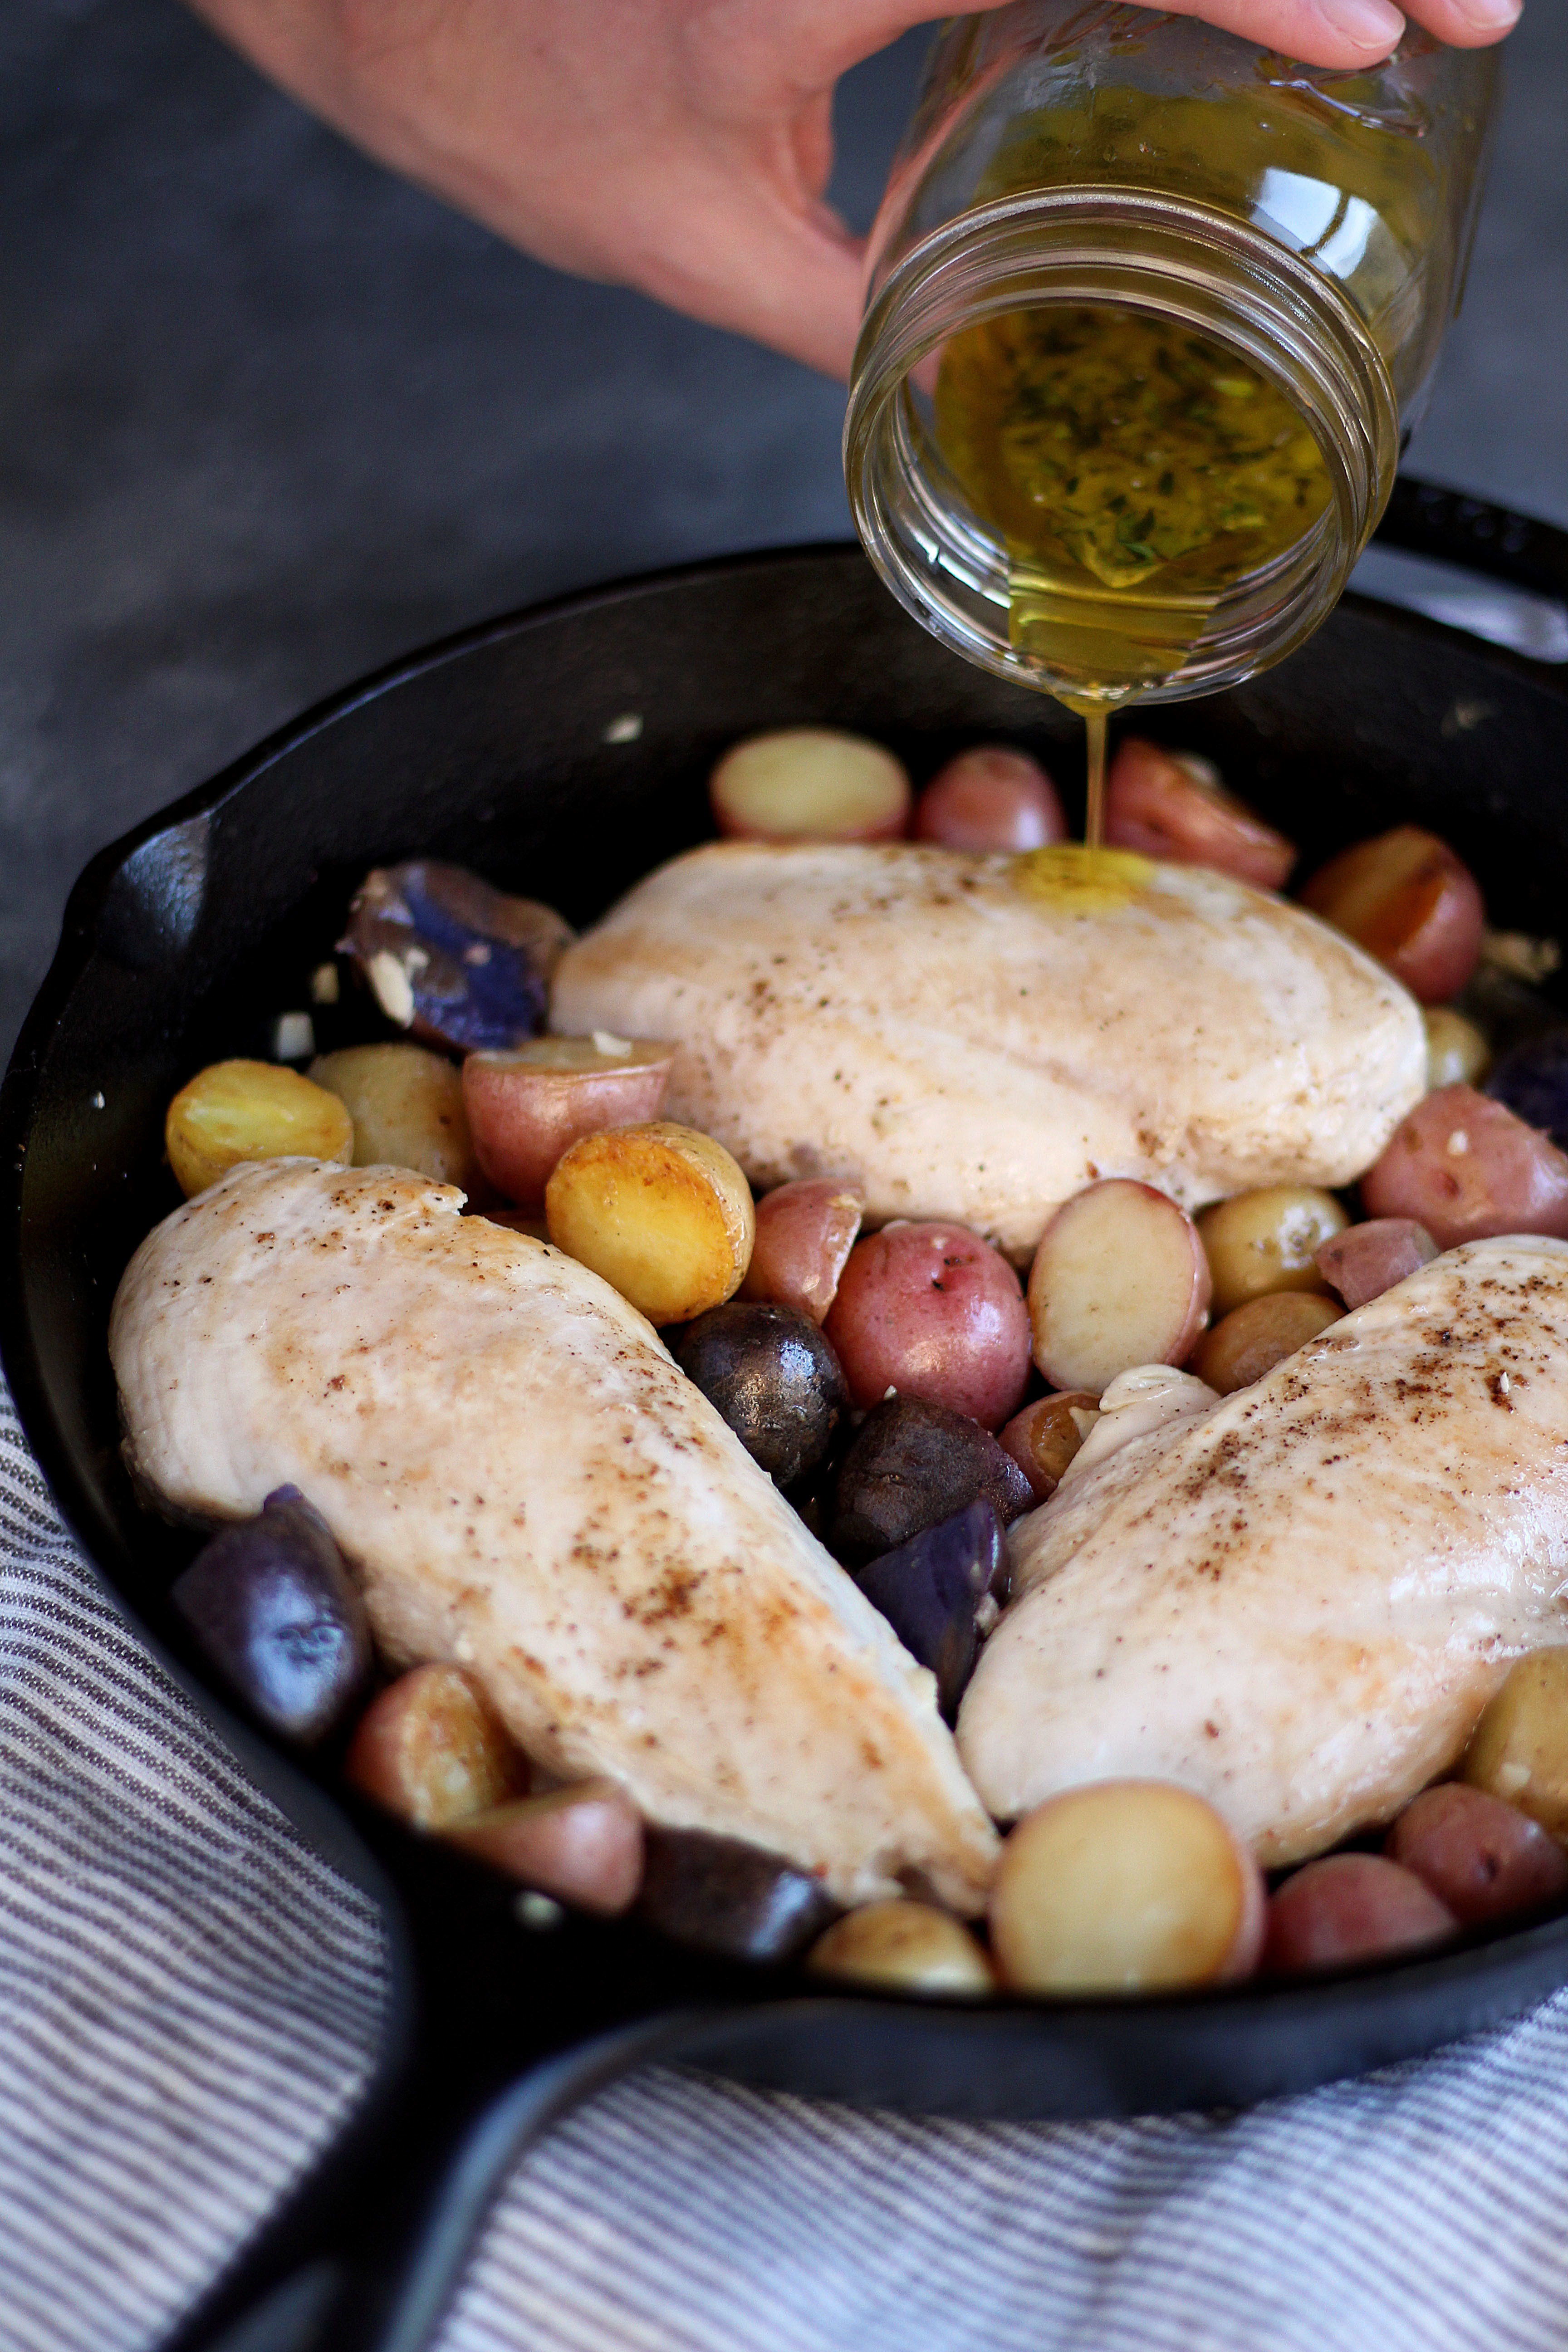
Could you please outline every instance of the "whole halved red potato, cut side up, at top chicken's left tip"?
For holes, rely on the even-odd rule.
[[[480,1167],[520,1209],[541,1209],[555,1162],[581,1136],[656,1120],[675,1047],[646,1037],[534,1037],[463,1063],[463,1110]]]

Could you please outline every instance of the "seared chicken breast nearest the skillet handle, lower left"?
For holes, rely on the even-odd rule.
[[[242,1167],[132,1258],[134,1475],[216,1519],[296,1484],[395,1665],[456,1661],[567,1778],[818,1872],[985,1900],[994,1832],[933,1677],[651,1324],[397,1169]]]

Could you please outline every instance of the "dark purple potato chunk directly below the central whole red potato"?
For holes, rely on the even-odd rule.
[[[980,1496],[1004,1526],[1034,1508],[1027,1477],[978,1421],[919,1397],[884,1397],[844,1456],[827,1548],[858,1569]]]

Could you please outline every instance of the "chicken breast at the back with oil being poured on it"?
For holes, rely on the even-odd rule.
[[[1013,1256],[1095,1176],[1197,1209],[1371,1167],[1425,1089],[1406,990],[1244,882],[1081,856],[693,849],[567,950],[550,1018],[675,1040],[665,1117],[755,1183],[849,1176],[872,1223]]]

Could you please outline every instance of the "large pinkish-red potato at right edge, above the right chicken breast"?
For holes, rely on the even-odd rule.
[[[1425,1096],[1361,1178],[1368,1216],[1408,1216],[1439,1249],[1493,1232],[1568,1237],[1568,1155],[1474,1087]]]

